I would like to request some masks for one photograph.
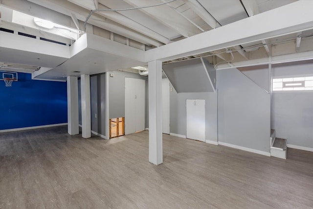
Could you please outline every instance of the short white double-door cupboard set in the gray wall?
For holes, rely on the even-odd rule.
[[[205,100],[186,99],[186,137],[205,141]]]

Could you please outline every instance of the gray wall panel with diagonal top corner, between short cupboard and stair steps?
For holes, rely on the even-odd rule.
[[[269,152],[270,94],[237,69],[218,70],[217,89],[219,142]]]

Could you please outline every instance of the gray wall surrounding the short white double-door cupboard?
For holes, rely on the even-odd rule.
[[[173,88],[170,92],[170,133],[186,136],[186,99],[205,99],[205,138],[217,141],[217,93],[177,93]]]

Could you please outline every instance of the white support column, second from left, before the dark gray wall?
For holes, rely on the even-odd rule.
[[[90,113],[90,79],[89,75],[81,75],[81,99],[82,99],[82,137],[91,137],[91,113]]]

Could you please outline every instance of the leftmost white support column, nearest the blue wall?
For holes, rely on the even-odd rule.
[[[76,76],[67,76],[67,132],[79,134],[78,127],[78,83]]]

